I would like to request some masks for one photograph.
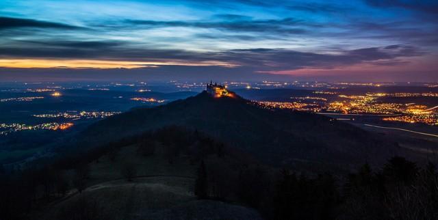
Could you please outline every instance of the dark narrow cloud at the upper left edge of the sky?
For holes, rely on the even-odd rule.
[[[37,27],[37,28],[53,28],[53,29],[81,29],[72,25],[62,23],[53,23],[42,20],[25,19],[25,18],[10,18],[0,17],[0,30],[14,29],[20,27]]]

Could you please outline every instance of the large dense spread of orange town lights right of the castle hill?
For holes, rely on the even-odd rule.
[[[313,92],[313,94],[337,94],[334,92]],[[437,107],[427,107],[426,105],[417,105],[415,103],[401,104],[395,102],[379,102],[378,98],[383,96],[435,96],[428,92],[422,94],[409,93],[367,93],[365,95],[346,95],[339,94],[337,97],[344,100],[335,100],[327,102],[326,98],[320,97],[291,97],[296,100],[306,101],[313,100],[312,103],[305,102],[257,102],[265,109],[294,109],[297,111],[310,112],[333,112],[352,115],[382,115],[385,121],[407,122],[407,123],[424,123],[428,125],[438,125]],[[321,102],[315,102],[321,101]]]

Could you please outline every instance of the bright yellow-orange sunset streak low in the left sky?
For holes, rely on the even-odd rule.
[[[0,59],[3,68],[154,68],[157,66],[225,66],[234,67],[221,61],[188,62],[180,60],[170,61],[117,61],[95,59]]]

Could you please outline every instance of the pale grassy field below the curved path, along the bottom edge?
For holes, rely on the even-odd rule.
[[[136,178],[88,187],[81,194],[57,204],[46,219],[80,202],[97,201],[105,219],[261,219],[251,208],[211,200],[196,200],[191,178]]]

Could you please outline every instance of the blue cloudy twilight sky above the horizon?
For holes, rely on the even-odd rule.
[[[1,0],[0,67],[0,81],[438,81],[438,1]]]

